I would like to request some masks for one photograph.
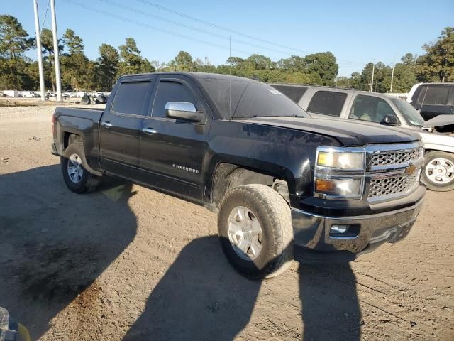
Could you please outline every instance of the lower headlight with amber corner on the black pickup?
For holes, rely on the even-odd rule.
[[[316,178],[315,191],[331,197],[360,197],[362,178]]]

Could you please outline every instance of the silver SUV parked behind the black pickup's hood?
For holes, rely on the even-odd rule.
[[[404,99],[386,94],[336,87],[288,84],[271,86],[314,117],[323,115],[333,119],[355,119],[418,132],[425,148],[421,177],[423,183],[430,190],[454,189],[454,135],[439,134],[433,130],[436,121],[443,122],[443,125],[454,124],[454,115],[449,115],[453,117],[452,123],[446,123],[441,117],[424,121],[419,112]]]

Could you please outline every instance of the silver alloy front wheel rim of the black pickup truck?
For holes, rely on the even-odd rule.
[[[247,207],[237,206],[228,215],[228,239],[242,259],[253,261],[260,255],[263,246],[262,227]]]

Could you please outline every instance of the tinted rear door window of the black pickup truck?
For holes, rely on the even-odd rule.
[[[116,90],[111,110],[120,114],[143,115],[151,82],[122,82]]]

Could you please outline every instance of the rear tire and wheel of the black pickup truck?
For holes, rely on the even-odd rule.
[[[65,150],[64,156],[60,158],[62,165],[63,179],[74,193],[89,193],[96,190],[101,183],[101,177],[87,171],[84,165],[87,164],[84,154],[84,146],[81,142],[70,144]]]

